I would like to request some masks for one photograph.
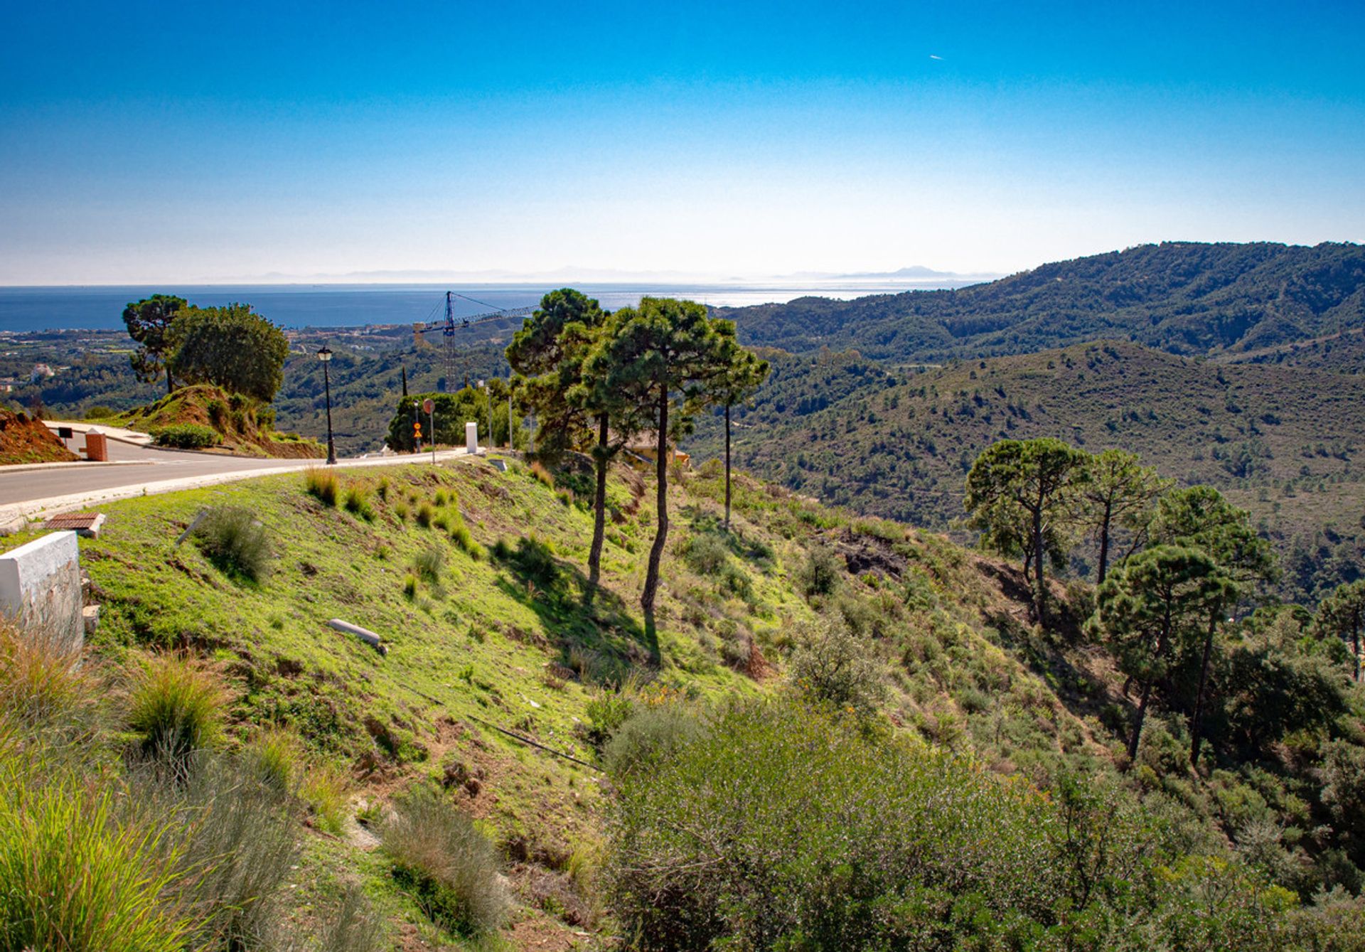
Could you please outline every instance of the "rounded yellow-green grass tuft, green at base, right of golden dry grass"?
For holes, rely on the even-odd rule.
[[[217,740],[224,692],[210,672],[175,654],[154,654],[134,668],[131,682],[128,725],[141,735],[143,754],[182,765]]]

